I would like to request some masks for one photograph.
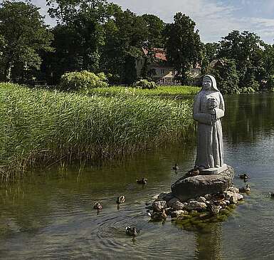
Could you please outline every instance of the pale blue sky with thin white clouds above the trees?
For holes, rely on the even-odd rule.
[[[33,0],[46,15],[46,0]],[[257,33],[266,43],[274,43],[274,0],[112,0],[136,14],[154,14],[172,23],[181,12],[196,22],[201,41],[216,42],[233,30]],[[54,21],[46,17],[47,24]]]

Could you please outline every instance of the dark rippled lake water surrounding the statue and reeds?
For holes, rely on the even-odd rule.
[[[225,158],[251,194],[224,222],[149,222],[144,203],[194,164],[195,140],[117,165],[45,171],[0,190],[0,259],[274,259],[274,95],[225,97]],[[175,174],[171,168],[179,164]],[[149,180],[137,185],[140,177]],[[243,187],[236,176],[234,184]],[[115,198],[126,203],[117,209]],[[97,214],[94,202],[101,202]],[[136,239],[125,227],[140,230]]]

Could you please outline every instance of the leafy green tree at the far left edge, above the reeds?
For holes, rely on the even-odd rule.
[[[1,78],[24,81],[41,65],[41,51],[53,51],[53,35],[39,8],[31,3],[3,1],[0,8]]]

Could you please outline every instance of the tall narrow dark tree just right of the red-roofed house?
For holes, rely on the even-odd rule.
[[[186,83],[187,71],[201,62],[202,43],[195,22],[185,14],[177,13],[174,23],[165,29],[167,59],[176,69],[176,77]]]

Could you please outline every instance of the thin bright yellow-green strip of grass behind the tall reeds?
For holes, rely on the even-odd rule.
[[[97,95],[148,95],[148,96],[183,96],[183,95],[195,95],[201,90],[199,87],[193,86],[158,86],[155,89],[139,89],[125,86],[115,86],[109,88],[90,88],[88,94]]]

